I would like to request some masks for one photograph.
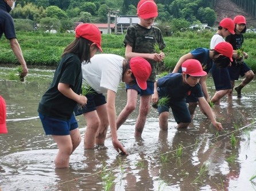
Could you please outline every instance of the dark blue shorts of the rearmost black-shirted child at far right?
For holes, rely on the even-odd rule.
[[[231,80],[238,80],[239,75],[243,77],[245,73],[250,70],[250,67],[245,62],[241,64],[232,63],[232,65],[228,67]]]

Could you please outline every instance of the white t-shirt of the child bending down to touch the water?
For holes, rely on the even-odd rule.
[[[95,54],[90,62],[82,65],[83,80],[97,93],[106,93],[108,89],[117,93],[124,59],[116,54]]]

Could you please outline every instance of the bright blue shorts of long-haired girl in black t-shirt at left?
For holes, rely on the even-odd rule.
[[[75,116],[72,114],[70,120],[58,120],[52,117],[46,117],[39,113],[42,127],[44,128],[45,134],[52,134],[55,136],[67,136],[71,130],[78,128]]]

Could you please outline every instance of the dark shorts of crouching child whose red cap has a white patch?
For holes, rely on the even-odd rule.
[[[161,99],[161,98],[159,98]],[[188,106],[185,102],[185,99],[183,100],[172,100],[169,101],[166,105],[160,105],[158,106],[157,110],[159,115],[162,112],[169,112],[169,108],[172,109],[172,114],[174,117],[174,120],[177,122],[177,124],[183,123],[190,123],[191,122],[191,116],[188,110]]]

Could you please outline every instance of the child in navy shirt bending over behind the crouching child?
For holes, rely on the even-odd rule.
[[[214,49],[211,50],[205,49],[203,47],[197,48],[195,50],[192,50],[190,53],[183,55],[176,63],[176,66],[174,67],[172,73],[179,72],[181,69],[181,64],[185,62],[187,59],[197,59],[201,63],[203,70],[208,74],[209,71],[211,70],[213,60],[215,61],[215,64],[218,65],[218,67],[227,67],[227,65],[229,65],[229,63],[232,61],[232,52],[232,46],[228,42],[220,42],[218,43],[218,45],[214,47]],[[223,59],[223,57],[227,57],[227,59]],[[200,78],[199,83],[202,87],[205,100],[207,102],[210,102],[210,96],[207,91],[206,79],[207,75],[202,76]],[[156,102],[158,98],[155,98],[153,95],[152,100]],[[191,94],[187,96],[186,101],[187,103],[189,103],[188,109],[192,119],[196,106],[198,104],[198,99],[195,96],[193,96],[193,94]]]

